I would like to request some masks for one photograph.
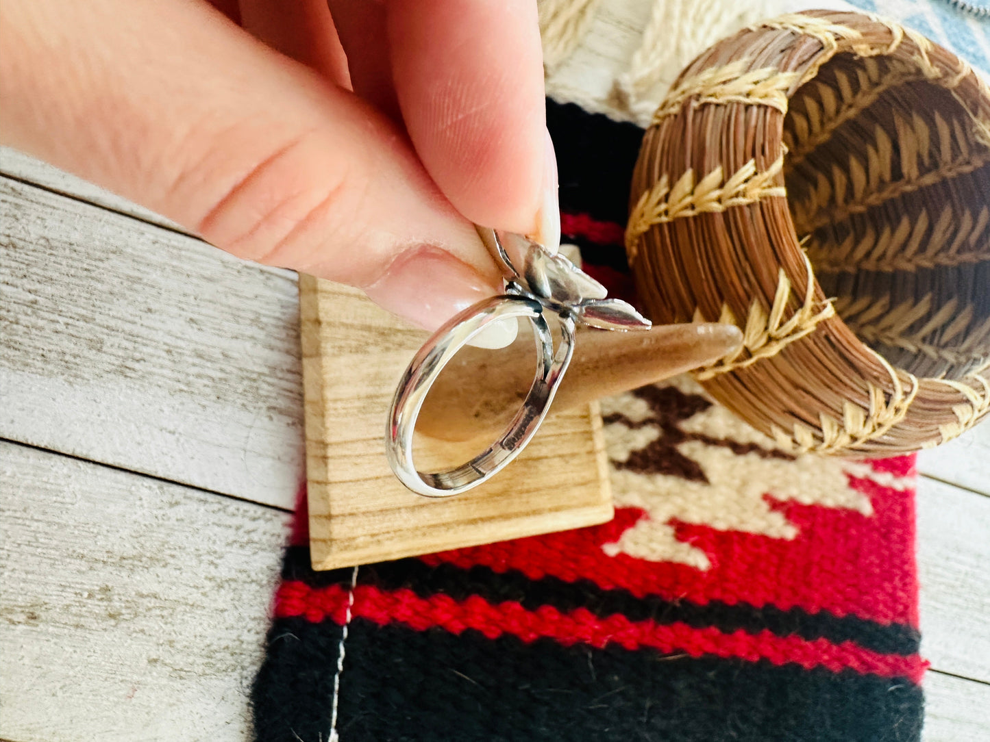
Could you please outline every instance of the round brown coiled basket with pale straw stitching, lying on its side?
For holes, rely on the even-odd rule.
[[[743,328],[697,373],[795,453],[892,455],[990,412],[990,90],[917,33],[783,16],[685,69],[627,250],[657,322]]]

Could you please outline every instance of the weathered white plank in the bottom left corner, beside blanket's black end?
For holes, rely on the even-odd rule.
[[[0,443],[0,737],[245,740],[289,515]]]

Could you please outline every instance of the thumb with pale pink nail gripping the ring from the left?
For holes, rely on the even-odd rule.
[[[5,143],[419,325],[497,290],[402,132],[206,3],[10,0],[0,46]]]

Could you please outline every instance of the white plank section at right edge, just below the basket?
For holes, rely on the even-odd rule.
[[[922,655],[937,670],[984,683],[990,683],[988,565],[990,498],[921,478]]]

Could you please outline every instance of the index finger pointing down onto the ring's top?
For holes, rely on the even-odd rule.
[[[556,168],[535,0],[386,2],[395,92],[433,179],[476,224],[542,232]]]

